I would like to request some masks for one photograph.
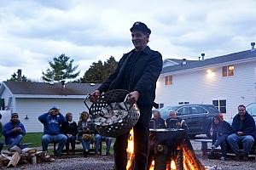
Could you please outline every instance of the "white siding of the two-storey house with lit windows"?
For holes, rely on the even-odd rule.
[[[165,77],[157,82],[156,102],[164,105],[212,104],[213,99],[227,100],[226,118],[236,114],[238,105],[255,102],[256,87],[254,67],[256,61],[236,64],[235,76],[222,77],[222,67],[210,68],[213,76],[207,75],[207,69],[188,71],[172,75],[171,86],[166,86]]]

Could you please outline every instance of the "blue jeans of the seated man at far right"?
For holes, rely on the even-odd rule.
[[[228,143],[236,155],[248,155],[253,147],[254,139],[251,135],[238,136],[236,133],[233,133],[228,136]],[[242,144],[242,151],[239,150],[238,144]]]

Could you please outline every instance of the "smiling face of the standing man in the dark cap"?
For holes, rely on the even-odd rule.
[[[131,41],[134,47],[140,51],[143,48],[147,47],[149,35],[143,31],[132,31],[131,32]]]

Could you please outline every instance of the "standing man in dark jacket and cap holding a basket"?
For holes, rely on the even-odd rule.
[[[151,33],[148,26],[142,22],[135,22],[130,29],[131,41],[134,49],[119,60],[117,69],[102,86],[93,92],[90,98],[95,101],[102,92],[112,89],[130,91],[129,102],[137,103],[140,117],[134,127],[134,169],[147,169],[148,133],[151,110],[155,98],[155,86],[162,70],[162,56],[159,52],[148,47]],[[129,133],[119,136],[113,146],[116,170],[125,170],[127,163],[127,139]]]

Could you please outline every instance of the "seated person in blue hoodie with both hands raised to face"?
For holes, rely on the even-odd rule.
[[[58,108],[52,107],[47,113],[38,116],[38,120],[44,124],[43,151],[48,150],[49,143],[59,143],[57,150],[55,150],[55,156],[61,156],[61,151],[67,141],[66,135],[61,133],[61,124],[66,122],[66,118]]]

